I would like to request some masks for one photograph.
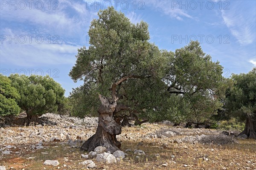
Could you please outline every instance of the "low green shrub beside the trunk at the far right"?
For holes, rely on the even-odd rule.
[[[239,132],[243,131],[245,127],[245,123],[241,122],[240,120],[236,119],[236,118],[232,118],[230,120],[223,120],[219,123],[218,125],[218,129],[221,130],[230,130],[230,131],[234,131],[237,130]]]

